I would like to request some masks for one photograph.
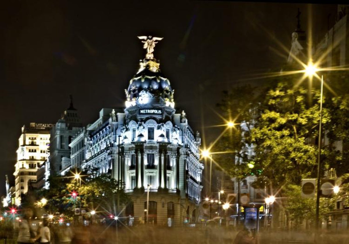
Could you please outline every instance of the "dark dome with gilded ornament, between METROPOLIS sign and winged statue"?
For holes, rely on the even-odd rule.
[[[171,106],[173,90],[170,81],[161,73],[159,66],[160,63],[155,59],[144,59],[140,62],[140,69],[125,90],[127,107],[143,103],[141,101],[144,99],[147,99],[148,103],[163,103]]]

